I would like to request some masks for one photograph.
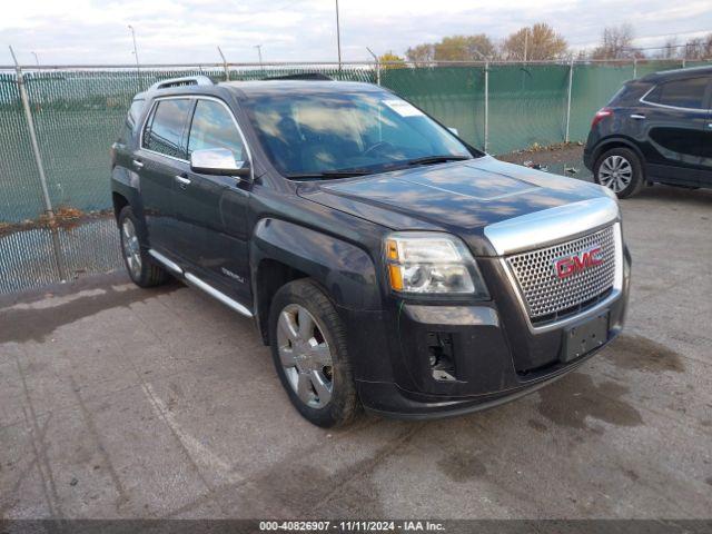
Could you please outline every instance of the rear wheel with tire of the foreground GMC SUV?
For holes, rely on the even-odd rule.
[[[130,206],[119,212],[121,256],[129,277],[139,287],[159,286],[168,279],[168,273],[150,257],[141,226]]]

